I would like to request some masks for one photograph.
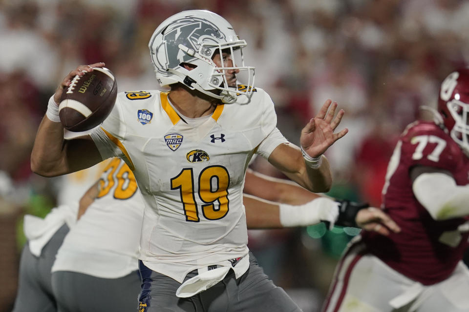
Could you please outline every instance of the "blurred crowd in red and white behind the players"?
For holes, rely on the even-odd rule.
[[[31,173],[48,98],[70,70],[98,61],[114,72],[119,92],[158,89],[148,40],[183,9],[216,12],[246,39],[256,86],[272,96],[278,128],[292,142],[327,98],[339,103],[340,128],[349,133],[327,152],[329,195],[374,206],[400,133],[428,118],[419,107],[436,107],[441,80],[468,63],[463,0],[0,0],[0,311],[10,311],[16,294],[22,216],[76,200],[79,192],[64,187],[86,188],[96,178]],[[282,177],[259,158],[255,170]],[[266,273],[305,312],[318,311],[337,258],[356,234],[325,232],[250,232],[249,247]]]

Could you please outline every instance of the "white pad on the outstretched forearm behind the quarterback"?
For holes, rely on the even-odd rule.
[[[319,197],[298,206],[280,204],[279,210],[283,227],[308,226],[329,221],[329,228],[332,228],[339,216],[339,203],[327,197]]]

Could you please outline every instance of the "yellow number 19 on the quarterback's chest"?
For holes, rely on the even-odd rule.
[[[213,188],[213,183],[216,187]],[[228,186],[230,175],[225,167],[210,166],[202,170],[199,176],[199,198],[202,214],[209,220],[218,220],[228,214]],[[171,190],[179,190],[186,221],[199,222],[199,213],[195,202],[194,175],[192,168],[184,168],[179,175],[171,179]],[[216,205],[215,205],[216,203]]]

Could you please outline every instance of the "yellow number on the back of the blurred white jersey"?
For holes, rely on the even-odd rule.
[[[122,166],[119,168],[119,164],[122,162]],[[119,170],[117,170],[119,168]],[[114,158],[104,169],[105,177],[101,177],[99,180],[99,193],[98,197],[106,196],[114,185],[117,184],[114,189],[114,198],[116,199],[128,199],[132,197],[137,191],[137,182],[128,165],[121,161],[119,158]],[[104,176],[104,175],[103,175]]]

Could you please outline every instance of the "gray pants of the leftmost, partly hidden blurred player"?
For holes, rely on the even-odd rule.
[[[31,254],[28,244],[21,252],[18,294],[12,312],[56,312],[50,269],[55,255],[68,233],[63,225],[43,247],[41,256]]]

